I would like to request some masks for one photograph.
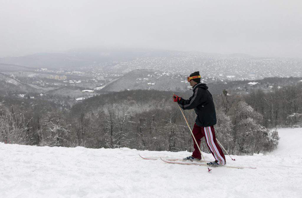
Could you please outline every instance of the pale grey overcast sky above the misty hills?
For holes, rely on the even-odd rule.
[[[0,56],[102,46],[302,58],[302,1],[0,0]]]

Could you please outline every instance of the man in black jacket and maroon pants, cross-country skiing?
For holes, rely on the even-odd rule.
[[[205,137],[207,146],[215,158],[215,161],[207,163],[209,166],[221,166],[226,164],[225,156],[216,141],[214,125],[216,124],[216,111],[213,97],[206,84],[200,82],[199,72],[191,73],[188,82],[193,88],[193,95],[185,100],[182,97],[173,95],[174,102],[183,110],[194,109],[197,114],[192,133],[200,146],[201,138]],[[184,160],[200,160],[201,153],[193,139],[194,152]]]

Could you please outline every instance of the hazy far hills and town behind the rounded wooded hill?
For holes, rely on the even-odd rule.
[[[0,71],[43,68],[52,73],[63,71],[61,74],[69,75],[71,72],[83,72],[85,76],[104,78],[124,75],[135,69],[150,69],[181,75],[200,71],[203,78],[255,80],[273,76],[301,77],[301,63],[302,59],[252,57],[240,53],[223,55],[194,51],[104,48],[4,57],[0,58]]]

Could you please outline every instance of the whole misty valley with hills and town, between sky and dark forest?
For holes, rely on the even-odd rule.
[[[206,84],[221,82],[223,86],[217,89],[220,92],[227,87],[226,81],[246,84],[267,77],[300,78],[302,59],[135,48],[86,48],[0,58],[0,72],[4,74],[0,79],[2,88],[14,86],[12,89],[17,94],[48,92],[80,97],[87,96],[82,90],[93,89],[96,93],[128,89],[187,90],[186,77],[194,71],[200,71],[201,81]],[[24,88],[11,83],[15,81]]]

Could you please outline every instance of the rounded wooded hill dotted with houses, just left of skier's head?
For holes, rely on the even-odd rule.
[[[182,82],[183,81],[183,82]],[[158,70],[137,69],[128,72],[116,81],[105,85],[101,92],[123,91],[136,89],[156,89],[160,91],[186,90],[189,86],[185,77],[169,75]]]

